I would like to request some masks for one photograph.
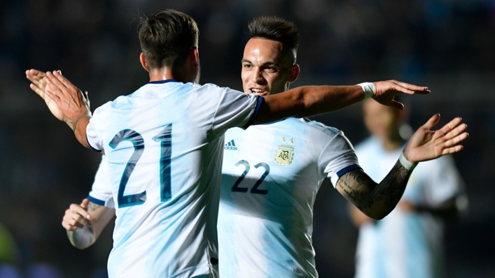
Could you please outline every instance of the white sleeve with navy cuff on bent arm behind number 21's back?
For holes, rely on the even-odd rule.
[[[95,175],[95,182],[93,182],[88,199],[97,205],[115,208],[112,195],[110,168],[105,155],[102,155],[102,162],[99,163],[99,168]]]

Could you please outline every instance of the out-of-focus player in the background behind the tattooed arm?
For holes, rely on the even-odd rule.
[[[363,103],[371,137],[356,145],[359,163],[373,180],[381,180],[410,136],[406,110]],[[444,220],[466,209],[463,181],[452,156],[419,163],[395,210],[375,221],[350,207],[359,228],[356,278],[443,277]]]

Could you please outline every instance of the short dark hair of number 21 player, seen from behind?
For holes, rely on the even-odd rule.
[[[192,17],[172,9],[157,10],[139,18],[137,35],[150,68],[176,68],[197,47],[200,31]]]

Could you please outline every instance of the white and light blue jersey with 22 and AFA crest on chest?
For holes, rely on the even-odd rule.
[[[359,168],[344,134],[289,118],[225,133],[220,277],[317,277],[313,203],[325,177]]]

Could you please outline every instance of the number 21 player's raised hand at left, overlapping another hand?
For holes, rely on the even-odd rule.
[[[90,100],[87,92],[82,92],[58,71],[46,72],[45,94],[57,104],[67,117],[67,124],[72,126],[82,116],[91,116]],[[74,127],[73,127],[74,129]]]

